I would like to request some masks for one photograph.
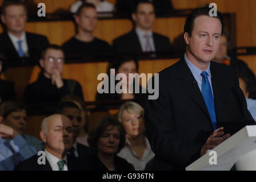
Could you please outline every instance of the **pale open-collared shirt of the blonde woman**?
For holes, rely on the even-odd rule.
[[[143,171],[147,162],[154,158],[155,154],[150,148],[149,140],[145,137],[146,148],[143,153],[142,159],[139,159],[136,152],[131,147],[131,143],[126,139],[125,147],[117,154],[119,157],[126,159],[127,162],[133,164],[135,171]]]

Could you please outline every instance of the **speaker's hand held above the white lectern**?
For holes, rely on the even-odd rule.
[[[214,147],[218,146],[220,143],[224,142],[226,139],[230,137],[230,134],[224,135],[223,129],[223,127],[220,127],[210,135],[205,145],[202,147],[201,156],[205,155],[207,150],[213,149]],[[221,137],[222,135],[224,136]]]

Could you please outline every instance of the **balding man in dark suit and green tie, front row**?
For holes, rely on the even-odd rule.
[[[54,114],[43,119],[40,137],[45,143],[45,164],[40,156],[34,155],[14,168],[16,171],[78,171],[90,170],[89,163],[83,163],[66,151],[73,144],[71,121],[65,115]]]

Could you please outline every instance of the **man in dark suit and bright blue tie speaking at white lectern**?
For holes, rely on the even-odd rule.
[[[235,73],[211,62],[223,30],[221,14],[195,9],[186,19],[186,53],[159,73],[159,97],[146,100],[145,124],[154,169],[184,170],[247,124],[254,124]],[[153,79],[154,80],[154,79]]]

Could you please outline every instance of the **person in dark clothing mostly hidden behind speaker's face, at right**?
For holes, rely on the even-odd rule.
[[[250,90],[253,91],[250,93],[250,97],[256,97],[256,80],[254,73],[250,70],[250,68],[247,66],[245,62],[237,59],[237,57],[235,56],[227,55],[229,45],[229,35],[224,31],[223,35],[221,36],[221,44],[219,46],[219,51],[217,53],[217,56],[213,59],[213,61],[229,65],[231,68],[234,69],[237,75],[245,77],[249,81]]]

